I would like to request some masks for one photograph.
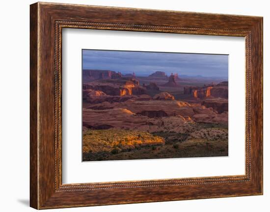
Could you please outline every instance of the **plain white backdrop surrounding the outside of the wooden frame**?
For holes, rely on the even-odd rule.
[[[58,0],[123,7],[264,16],[264,195],[162,203],[144,203],[49,211],[71,212],[267,212],[270,208],[270,14],[266,0]],[[29,4],[3,1],[0,7],[0,210],[34,211],[29,201]],[[267,85],[268,82],[268,85]]]

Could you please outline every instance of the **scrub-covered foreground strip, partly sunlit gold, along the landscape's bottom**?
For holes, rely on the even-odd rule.
[[[228,155],[228,129],[200,124],[190,133],[85,129],[83,160],[127,160]]]

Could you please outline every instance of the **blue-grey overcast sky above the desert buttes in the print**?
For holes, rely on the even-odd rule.
[[[145,76],[155,71],[167,75],[228,77],[228,55],[82,50],[83,69],[101,69]]]

